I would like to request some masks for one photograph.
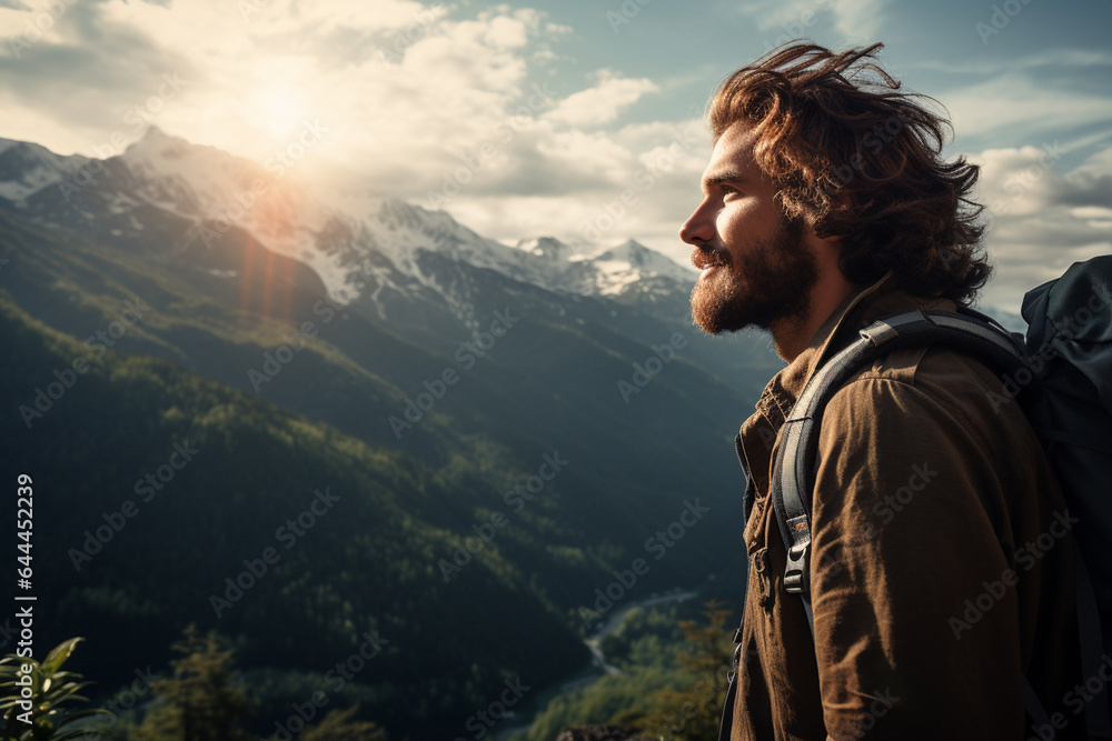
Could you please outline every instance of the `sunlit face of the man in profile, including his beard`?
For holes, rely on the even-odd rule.
[[[776,187],[753,160],[753,130],[735,123],[703,172],[703,202],[679,230],[703,270],[692,319],[711,334],[802,322],[818,279],[805,228],[776,203]]]

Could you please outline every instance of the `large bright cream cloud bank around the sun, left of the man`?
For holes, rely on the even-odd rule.
[[[674,143],[683,122],[613,129],[661,88],[608,69],[588,72],[584,89],[554,87],[552,46],[569,31],[505,6],[105,0],[75,6],[31,63],[0,60],[6,133],[46,130],[92,154],[178,71],[186,90],[143,123],[265,161],[317,121],[329,133],[297,166],[304,177],[329,158],[346,166],[345,186],[449,209],[508,242],[582,237],[614,203],[620,218],[592,239],[674,242],[677,192],[697,192],[708,152],[703,127],[697,146]]]

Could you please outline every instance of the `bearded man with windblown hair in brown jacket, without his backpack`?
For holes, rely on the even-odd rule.
[[[881,44],[795,44],[735,72],[709,107],[703,199],[681,237],[695,322],[771,330],[788,363],[741,428],[749,579],[732,739],[1046,738],[1024,678],[1079,738],[1071,519],[1000,379],[942,347],[893,351],[822,420],[810,600],[784,590],[768,502],[780,431],[806,380],[878,318],[953,311],[990,269],[976,166],[898,91]],[[1040,538],[1042,537],[1042,538]],[[1055,718],[1055,723],[1059,718]],[[1046,730],[1046,733],[1050,731]]]

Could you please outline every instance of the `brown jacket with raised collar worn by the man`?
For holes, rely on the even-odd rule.
[[[1022,410],[969,356],[897,350],[834,395],[812,501],[814,638],[784,591],[767,493],[785,414],[838,342],[910,308],[954,304],[887,278],[858,291],[742,425],[749,580],[733,739],[1037,739],[1024,675],[1080,725],[1066,697],[1082,679],[1075,520]]]

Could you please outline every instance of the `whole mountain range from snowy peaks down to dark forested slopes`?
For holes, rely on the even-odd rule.
[[[0,147],[0,327],[29,359],[4,382],[6,434],[21,467],[57,468],[43,538],[58,545],[51,602],[64,609],[44,635],[88,635],[90,655],[99,642],[102,664],[126,675],[195,620],[249,645],[248,669],[288,689],[355,640],[298,637],[404,614],[406,661],[451,657],[407,685],[420,702],[368,690],[366,713],[404,738],[456,733],[459,709],[480,707],[496,677],[564,671],[523,627],[547,625],[543,642],[579,661],[567,638],[589,630],[584,610],[635,559],[651,568],[618,584],[632,598],[716,573],[739,582],[732,439],[780,361],[763,337],[692,328],[694,273],[636,242],[505,246],[445,212],[310,187],[296,167],[279,174],[155,129],[107,160]],[[102,380],[54,398],[77,360],[107,363]],[[193,429],[207,430],[199,460],[218,462],[190,469],[191,504],[143,518],[110,557],[70,572],[66,549],[135,497],[171,432]],[[550,460],[566,464],[550,475]],[[409,524],[390,531],[378,505],[354,507],[334,537],[377,533],[366,552],[307,547],[249,610],[218,615],[212,580],[182,578],[196,554],[217,583],[238,573],[271,517],[310,481],[340,479]],[[679,519],[691,508],[712,513],[697,537]],[[480,541],[477,555],[459,550]],[[152,555],[163,545],[173,558]],[[454,571],[468,555],[489,568]],[[370,600],[345,575],[351,559],[408,565],[384,567]],[[475,600],[467,617],[461,594]],[[437,641],[420,638],[434,630]]]

